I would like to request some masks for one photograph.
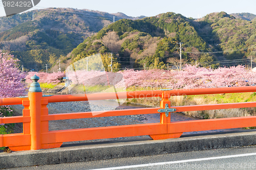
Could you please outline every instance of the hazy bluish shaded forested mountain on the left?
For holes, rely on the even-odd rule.
[[[34,14],[34,16],[33,16]],[[0,49],[10,51],[25,68],[40,70],[66,57],[89,36],[122,18],[122,13],[48,8],[1,17]]]

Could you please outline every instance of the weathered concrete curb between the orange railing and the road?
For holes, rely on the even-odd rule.
[[[63,145],[56,149],[0,153],[0,168],[159,155],[255,144],[255,130],[239,133],[182,135],[180,138],[165,140],[92,142],[82,145]]]

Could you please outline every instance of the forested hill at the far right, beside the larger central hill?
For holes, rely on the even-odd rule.
[[[208,14],[198,23],[195,28],[207,44],[223,51],[216,54],[217,58],[234,60],[255,56],[256,22],[220,12]]]

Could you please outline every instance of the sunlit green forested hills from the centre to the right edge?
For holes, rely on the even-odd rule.
[[[112,52],[123,68],[164,68],[179,63],[178,42],[183,42],[184,62],[242,59],[255,56],[255,26],[256,22],[225,12],[198,20],[172,12],[139,20],[121,19],[79,44],[72,60]]]

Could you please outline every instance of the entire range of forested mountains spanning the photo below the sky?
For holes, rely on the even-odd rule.
[[[11,51],[29,69],[40,70],[58,59],[69,64],[96,53],[103,54],[106,68],[108,53],[114,54],[116,68],[166,68],[179,64],[179,42],[183,63],[218,67],[225,65],[218,61],[256,55],[256,20],[225,12],[197,20],[173,12],[132,18],[70,8],[34,11],[34,20],[32,15],[31,11],[0,20],[0,49]]]

